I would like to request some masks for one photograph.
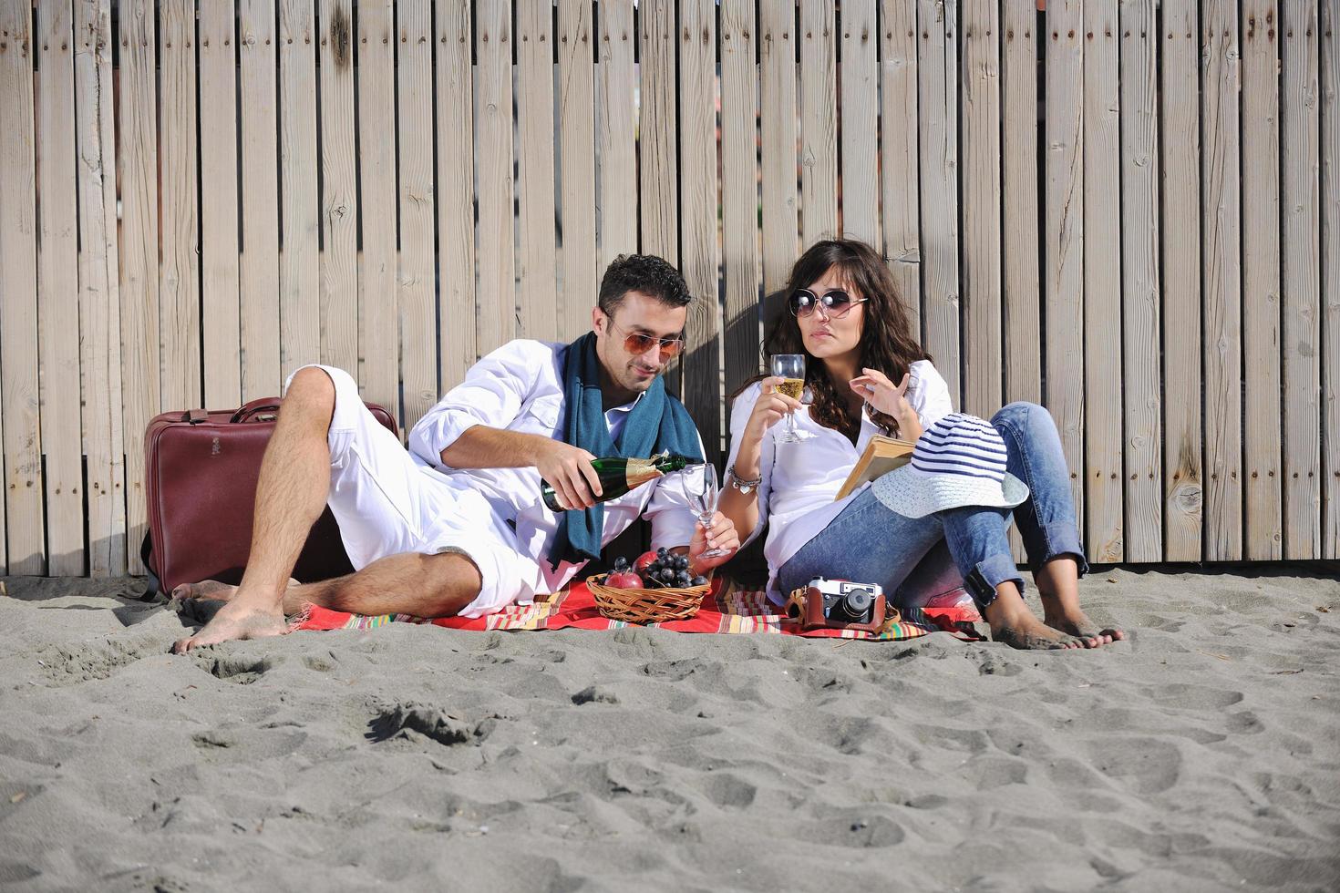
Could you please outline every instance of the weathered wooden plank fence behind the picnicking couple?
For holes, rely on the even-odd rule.
[[[1045,7],[1045,9],[1038,9]],[[645,250],[710,453],[813,240],[961,404],[1044,402],[1095,561],[1340,557],[1340,40],[1315,0],[0,0],[0,573],[139,572],[165,408],[411,426]]]

